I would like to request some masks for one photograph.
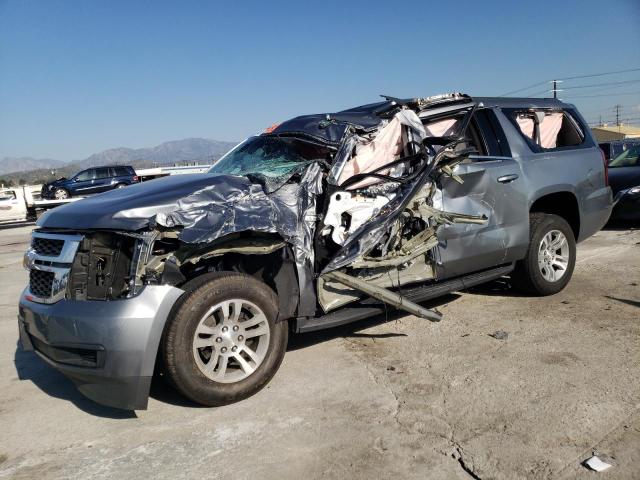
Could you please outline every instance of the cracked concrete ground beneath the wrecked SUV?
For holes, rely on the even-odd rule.
[[[640,230],[578,248],[560,294],[449,295],[294,338],[254,397],[149,409],[84,399],[17,345],[29,227],[0,230],[0,478],[640,478]],[[508,333],[498,340],[488,334]],[[614,457],[605,473],[580,462]]]

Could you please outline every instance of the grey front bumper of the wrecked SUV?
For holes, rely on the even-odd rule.
[[[165,322],[182,293],[150,285],[129,299],[42,304],[27,300],[25,289],[18,313],[20,340],[91,400],[142,410]]]

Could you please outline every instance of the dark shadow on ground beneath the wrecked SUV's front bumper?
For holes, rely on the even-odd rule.
[[[89,400],[76,389],[71,380],[47,365],[34,352],[23,350],[20,342],[16,345],[14,364],[21,381],[29,380],[44,394],[67,400],[89,415],[116,420],[136,418],[134,411],[105,407]]]

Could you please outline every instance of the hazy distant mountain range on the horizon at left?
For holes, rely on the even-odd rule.
[[[66,165],[81,170],[96,165],[171,165],[174,163],[211,163],[217,160],[236,142],[185,138],[161,143],[150,148],[111,148],[94,153],[83,160],[61,161],[31,157],[4,157],[0,159],[0,175],[28,172],[37,169],[57,169]]]

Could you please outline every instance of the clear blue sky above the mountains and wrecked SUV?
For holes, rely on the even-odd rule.
[[[0,0],[0,157],[240,140],[381,93],[498,95],[633,67],[638,0]],[[640,83],[575,92],[631,92],[567,100],[589,120],[618,103],[640,118]]]

